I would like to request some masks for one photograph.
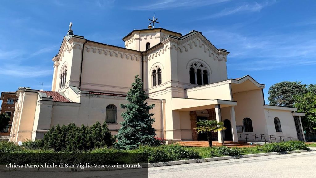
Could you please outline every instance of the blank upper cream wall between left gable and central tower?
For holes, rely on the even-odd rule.
[[[87,44],[83,53],[81,90],[128,92],[135,76],[141,76],[141,55]]]

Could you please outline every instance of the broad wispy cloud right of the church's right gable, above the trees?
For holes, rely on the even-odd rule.
[[[227,49],[228,67],[241,71],[261,71],[316,65],[316,33],[249,35],[228,30],[203,33],[217,48]],[[224,35],[214,35],[224,34]]]

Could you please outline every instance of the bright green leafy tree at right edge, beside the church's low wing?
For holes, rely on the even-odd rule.
[[[308,133],[316,132],[316,93],[308,92],[295,97],[294,106],[298,112],[305,113],[302,117],[302,125]]]

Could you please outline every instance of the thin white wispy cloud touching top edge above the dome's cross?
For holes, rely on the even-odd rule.
[[[166,10],[173,8],[195,8],[206,6],[210,4],[223,3],[230,0],[162,0],[157,1],[157,3],[146,4],[146,5],[136,5],[133,8],[128,8],[130,10]]]

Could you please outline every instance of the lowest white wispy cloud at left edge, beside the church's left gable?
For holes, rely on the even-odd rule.
[[[53,73],[53,70],[42,69],[40,66],[5,65],[0,67],[0,75],[13,77],[44,77]]]

